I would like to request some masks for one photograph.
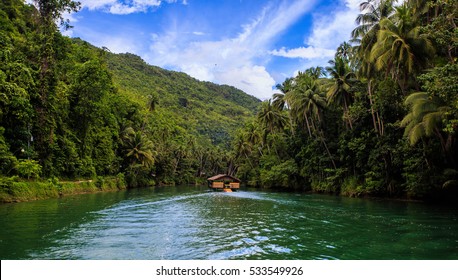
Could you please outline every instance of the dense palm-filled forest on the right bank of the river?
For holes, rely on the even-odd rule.
[[[361,1],[326,65],[278,85],[234,142],[253,185],[349,196],[458,194],[458,1]]]

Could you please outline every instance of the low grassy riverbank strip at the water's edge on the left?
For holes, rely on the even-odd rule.
[[[18,177],[0,177],[0,203],[33,201],[126,188],[122,174],[116,177],[97,177],[75,181],[59,181],[57,178],[24,180]]]

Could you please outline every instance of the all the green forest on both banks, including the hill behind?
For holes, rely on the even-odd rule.
[[[80,4],[34,2],[0,3],[3,201],[40,184],[61,195],[67,181],[218,173],[261,188],[458,197],[455,0],[362,2],[334,59],[264,102],[66,37],[63,14]]]

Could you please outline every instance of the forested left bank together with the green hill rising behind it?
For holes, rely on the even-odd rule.
[[[226,172],[259,100],[65,37],[78,3],[36,4],[0,3],[0,176],[139,186]]]

